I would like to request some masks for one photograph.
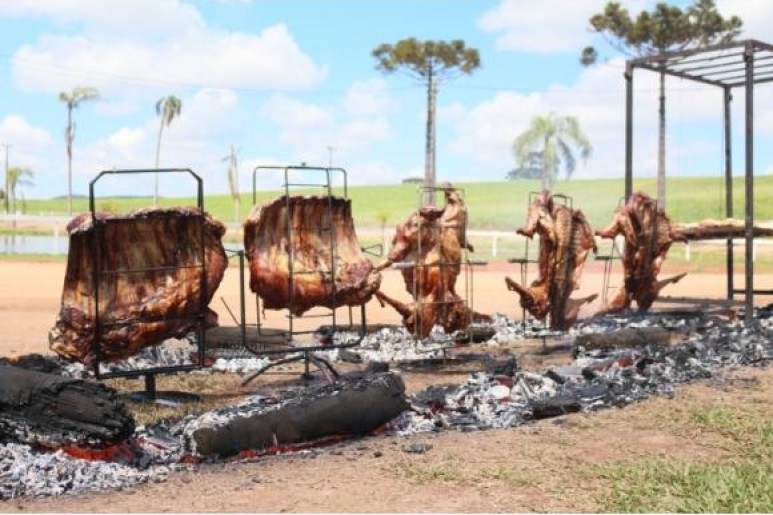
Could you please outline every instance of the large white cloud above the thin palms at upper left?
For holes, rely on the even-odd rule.
[[[77,35],[46,34],[17,50],[14,80],[27,91],[81,84],[134,95],[185,87],[297,90],[327,73],[284,24],[257,33],[224,31],[174,0],[31,4],[11,4],[0,16],[47,16],[84,27]]]

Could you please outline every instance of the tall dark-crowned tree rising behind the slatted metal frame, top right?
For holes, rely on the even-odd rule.
[[[636,19],[618,2],[609,2],[604,11],[590,18],[591,30],[601,34],[627,58],[645,57],[663,52],[689,50],[728,43],[741,33],[743,22],[737,16],[723,18],[714,0],[696,0],[687,9],[658,3],[652,12],[641,11]],[[580,62],[591,65],[598,52],[585,47]],[[658,111],[658,204],[666,205],[666,100],[665,73],[660,74]]]

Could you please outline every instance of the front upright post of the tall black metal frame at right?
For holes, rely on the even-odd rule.
[[[752,322],[754,300],[754,46],[747,41],[746,52],[746,291],[744,323]]]

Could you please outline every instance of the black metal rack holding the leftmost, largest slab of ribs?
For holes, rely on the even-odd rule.
[[[135,174],[144,174],[144,173],[187,173],[189,174],[195,181],[197,185],[197,199],[196,199],[196,207],[199,209],[200,214],[198,215],[198,221],[199,221],[199,231],[201,231],[201,241],[203,241],[203,231],[204,231],[204,189],[203,189],[203,181],[201,177],[199,177],[196,173],[194,173],[192,170],[188,168],[163,168],[163,169],[149,169],[149,170],[106,170],[102,171],[97,175],[90,183],[89,183],[89,211],[91,213],[91,221],[94,227],[94,246],[92,247],[92,257],[94,259],[94,270],[93,270],[93,284],[94,284],[94,318],[95,318],[95,337],[94,341],[92,342],[92,349],[94,351],[95,361],[94,361],[94,375],[97,379],[108,379],[108,378],[114,378],[114,377],[139,377],[144,376],[145,377],[145,390],[146,395],[149,399],[155,399],[156,396],[156,380],[155,376],[157,374],[168,374],[168,373],[174,373],[174,372],[181,372],[181,371],[188,371],[193,369],[199,369],[203,367],[204,362],[204,356],[205,356],[205,350],[206,350],[206,331],[205,331],[205,321],[206,321],[206,314],[207,314],[207,297],[208,297],[208,285],[207,285],[207,279],[206,279],[206,254],[205,249],[202,246],[201,248],[201,255],[200,255],[200,264],[197,266],[200,266],[202,269],[201,273],[201,284],[199,287],[200,297],[199,297],[199,309],[196,313],[192,314],[188,317],[177,317],[174,320],[191,320],[195,323],[197,328],[197,350],[198,350],[198,356],[199,360],[198,363],[195,364],[189,364],[189,365],[175,365],[175,366],[159,366],[159,367],[150,367],[146,369],[138,369],[138,370],[119,370],[119,371],[113,371],[108,373],[102,373],[100,372],[100,363],[101,363],[101,349],[100,349],[100,342],[102,339],[103,329],[107,326],[114,326],[114,325],[133,325],[133,324],[139,324],[144,323],[146,321],[142,319],[136,319],[136,320],[128,320],[124,322],[111,322],[111,323],[104,323],[101,319],[101,306],[100,306],[100,298],[99,298],[99,287],[101,284],[101,280],[106,275],[111,274],[132,274],[132,273],[138,273],[138,272],[147,272],[147,271],[155,271],[155,270],[173,270],[173,269],[179,269],[184,267],[189,267],[190,265],[180,266],[180,267],[159,267],[159,268],[146,268],[142,270],[102,270],[103,267],[103,256],[101,255],[100,249],[102,248],[100,245],[101,238],[104,235],[105,228],[110,225],[111,223],[118,223],[125,221],[124,218],[115,218],[115,219],[99,219],[96,216],[96,194],[95,194],[95,187],[97,182],[99,182],[103,177],[107,175],[135,175]],[[166,320],[172,320],[172,319],[166,319]],[[153,322],[157,320],[152,320]],[[161,343],[161,342],[159,342]]]

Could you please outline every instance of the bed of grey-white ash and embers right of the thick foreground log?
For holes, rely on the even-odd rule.
[[[773,359],[771,310],[751,327],[712,316],[649,315],[606,318],[577,333],[659,326],[687,336],[679,345],[585,350],[572,365],[543,374],[514,371],[472,374],[462,385],[432,386],[416,394],[413,412],[395,421],[398,433],[518,426],[577,411],[622,407],[651,395],[673,394],[679,383],[713,377],[721,367],[764,365]]]

